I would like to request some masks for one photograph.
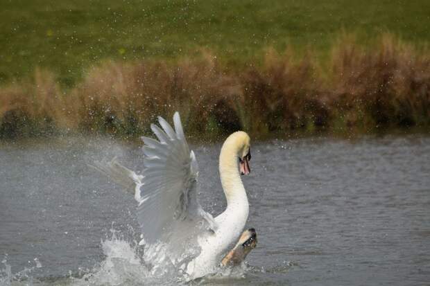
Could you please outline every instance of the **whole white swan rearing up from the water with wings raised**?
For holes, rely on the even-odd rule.
[[[150,126],[158,141],[143,137],[142,175],[115,159],[96,162],[95,167],[123,186],[135,185],[133,193],[139,202],[137,217],[146,258],[153,264],[167,259],[190,279],[203,277],[220,265],[248,219],[248,198],[239,170],[241,175],[250,172],[250,137],[246,132],[234,132],[223,144],[219,172],[227,208],[214,218],[198,204],[198,165],[185,140],[178,112],[173,116],[174,130],[163,118],[158,120],[162,129]],[[187,252],[196,244],[198,253]]]

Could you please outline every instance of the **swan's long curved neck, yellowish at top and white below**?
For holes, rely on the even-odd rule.
[[[248,197],[243,187],[241,176],[239,175],[238,150],[234,144],[228,140],[225,141],[219,159],[219,172],[221,184],[227,199],[228,208],[245,208],[246,217],[248,217]]]

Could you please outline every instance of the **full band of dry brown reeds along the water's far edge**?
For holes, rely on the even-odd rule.
[[[372,46],[348,36],[328,60],[312,51],[266,49],[263,64],[227,69],[207,53],[178,62],[105,62],[63,91],[55,74],[0,89],[0,135],[149,132],[155,116],[180,111],[189,134],[253,136],[360,133],[430,127],[430,53],[384,35]],[[327,64],[328,63],[328,64]]]

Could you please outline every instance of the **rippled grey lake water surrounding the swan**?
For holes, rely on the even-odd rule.
[[[220,148],[193,146],[214,215]],[[87,166],[114,156],[141,168],[139,146],[103,138],[0,146],[1,285],[175,284],[139,275],[135,201]],[[429,137],[253,143],[250,163],[257,248],[240,276],[200,283],[430,284]]]

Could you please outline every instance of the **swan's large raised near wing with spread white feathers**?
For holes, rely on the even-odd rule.
[[[162,128],[151,125],[158,141],[143,137],[144,170],[137,219],[146,243],[180,243],[196,228],[215,229],[212,215],[197,201],[198,165],[185,140],[178,112],[173,129],[163,118]]]

